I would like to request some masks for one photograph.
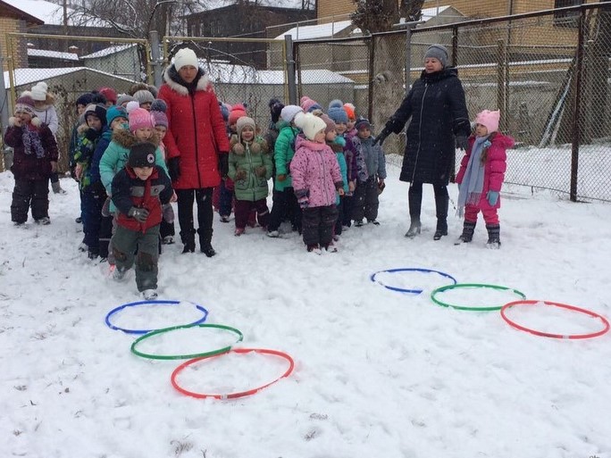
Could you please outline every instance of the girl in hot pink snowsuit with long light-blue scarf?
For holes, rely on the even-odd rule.
[[[506,150],[514,146],[514,139],[498,132],[499,118],[499,111],[490,110],[484,110],[475,118],[475,133],[469,138],[469,146],[456,175],[458,216],[465,216],[465,223],[455,245],[471,242],[477,214],[481,211],[488,229],[487,247],[500,247],[498,193],[505,179]]]

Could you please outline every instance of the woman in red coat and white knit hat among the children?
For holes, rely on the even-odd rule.
[[[196,230],[193,200],[197,203],[199,246],[206,256],[214,254],[213,187],[229,169],[229,139],[212,83],[199,68],[196,54],[182,48],[163,73],[158,97],[168,105],[166,147],[172,187],[178,196],[182,253],[195,251]]]

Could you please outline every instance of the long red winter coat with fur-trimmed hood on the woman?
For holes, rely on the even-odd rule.
[[[215,187],[221,183],[218,154],[229,154],[230,145],[221,108],[212,83],[201,69],[195,90],[180,82],[174,65],[163,73],[165,83],[158,97],[168,105],[169,128],[163,137],[166,158],[180,157],[180,177],[176,189]]]

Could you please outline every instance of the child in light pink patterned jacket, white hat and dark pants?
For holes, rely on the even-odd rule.
[[[290,174],[297,202],[302,208],[302,234],[308,252],[337,251],[332,246],[333,227],[338,219],[336,191],[344,195],[339,163],[325,143],[327,125],[312,113],[300,114],[295,124],[303,130],[297,136]]]

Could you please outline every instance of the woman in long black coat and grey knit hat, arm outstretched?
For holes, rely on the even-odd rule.
[[[389,133],[398,134],[411,118],[399,177],[411,183],[408,193],[411,224],[406,237],[420,233],[423,183],[431,183],[435,192],[437,229],[433,238],[439,240],[448,235],[448,182],[452,159],[456,147],[466,148],[471,123],[458,72],[447,64],[446,47],[430,46],[424,54],[424,71],[420,79],[414,82],[378,136],[381,143]]]

